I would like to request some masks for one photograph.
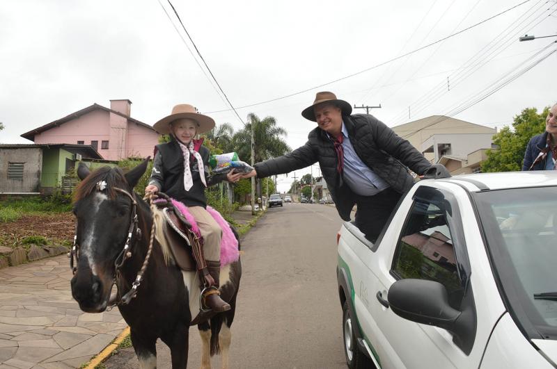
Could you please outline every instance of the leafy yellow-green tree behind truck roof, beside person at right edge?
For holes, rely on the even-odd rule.
[[[512,129],[505,126],[493,136],[493,143],[497,149],[487,150],[487,160],[482,163],[482,172],[521,170],[528,141],[545,131],[545,118],[548,113],[549,106],[540,114],[536,108],[526,108],[515,116]]]

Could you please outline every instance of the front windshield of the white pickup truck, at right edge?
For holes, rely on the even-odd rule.
[[[473,197],[512,317],[529,338],[557,339],[557,187]]]

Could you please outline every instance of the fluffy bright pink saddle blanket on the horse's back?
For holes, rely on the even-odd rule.
[[[174,208],[177,208],[180,213],[184,215],[186,220],[191,224],[191,230],[194,231],[194,233],[196,233],[198,237],[201,237],[201,232],[199,231],[199,227],[194,218],[194,215],[191,215],[187,206],[175,199],[172,199],[172,204],[174,205]],[[228,224],[228,222],[226,222],[226,220],[222,218],[221,213],[214,210],[214,208],[212,208],[211,206],[207,205],[207,212],[212,215],[214,220],[222,229],[221,267],[230,263],[234,263],[238,260],[238,258],[240,258],[240,251],[238,251],[238,240],[234,236],[234,232],[230,228],[230,224]]]

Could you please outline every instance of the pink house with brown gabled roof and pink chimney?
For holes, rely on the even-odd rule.
[[[132,101],[111,100],[110,108],[88,106],[21,136],[43,144],[91,145],[106,160],[152,156],[159,133],[130,117]]]

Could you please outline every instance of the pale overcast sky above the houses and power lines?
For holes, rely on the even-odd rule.
[[[1,1],[0,122],[5,129],[0,142],[31,143],[19,135],[93,103],[109,107],[110,99],[130,99],[132,117],[147,124],[168,115],[173,105],[189,103],[217,124],[240,129],[242,122],[199,67],[201,59],[188,50],[196,54],[168,2],[160,1]],[[521,3],[171,1],[235,107],[370,69]],[[554,53],[473,104],[556,49],[552,44],[542,51],[557,38],[519,42],[525,33],[557,34],[555,0],[527,1],[392,63],[237,113],[242,120],[248,113],[276,117],[292,148],[303,145],[315,127],[300,112],[320,90],[350,104],[381,104],[372,114],[389,126],[451,115],[501,128],[523,108],[557,101]],[[218,110],[226,111],[212,113]],[[288,190],[291,181],[292,174],[279,176],[279,190]]]

